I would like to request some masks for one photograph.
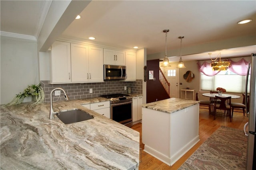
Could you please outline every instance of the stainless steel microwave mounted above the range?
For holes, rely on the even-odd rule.
[[[126,79],[126,66],[115,66],[104,64],[104,80]]]

